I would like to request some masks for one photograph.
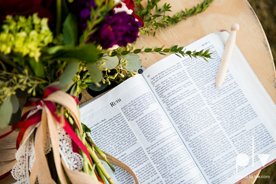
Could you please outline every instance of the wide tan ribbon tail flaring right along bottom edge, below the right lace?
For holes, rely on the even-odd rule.
[[[73,171],[71,169],[68,169],[63,161],[63,159],[61,159],[61,163],[63,165],[63,168],[70,180],[70,182],[72,184],[102,184],[101,182],[96,181],[92,176],[84,173],[84,172],[80,172],[80,171]]]

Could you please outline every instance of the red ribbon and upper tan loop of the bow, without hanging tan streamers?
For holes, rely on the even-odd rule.
[[[78,111],[77,111],[77,107],[76,107],[76,105],[79,104],[79,100],[77,98],[75,98],[74,96],[70,96],[70,98],[68,98],[68,96],[70,96],[70,95],[60,91],[58,88],[48,87],[45,90],[43,97],[39,98],[38,100],[36,100],[34,102],[28,101],[25,104],[23,111],[22,111],[20,122],[13,123],[12,130],[10,132],[7,132],[7,133],[1,135],[0,139],[3,137],[6,137],[7,135],[12,133],[16,129],[21,129],[19,131],[17,141],[16,141],[16,148],[18,149],[26,129],[29,126],[35,125],[41,121],[42,109],[39,109],[35,114],[29,116],[28,118],[27,118],[27,116],[29,115],[31,110],[38,109],[38,106],[42,107],[44,105],[48,108],[48,110],[51,112],[51,114],[55,117],[57,122],[59,122],[59,123],[61,123],[61,121],[65,122],[63,129],[71,137],[71,139],[75,142],[75,144],[78,145],[79,148],[82,149],[83,152],[85,152],[85,153],[87,152],[86,155],[90,158],[85,145],[79,140],[79,137],[77,137],[74,130],[69,125],[67,119],[63,117],[63,120],[61,120],[61,118],[58,117],[55,113],[56,107],[53,104],[53,102],[59,103],[59,104],[63,105],[64,107],[66,107],[69,110],[69,112],[71,113],[71,115],[73,116],[73,118],[75,119],[76,125],[78,126],[80,133],[82,134],[82,126],[81,126],[81,122],[79,120],[79,115],[77,114]],[[33,98],[33,99],[35,99],[35,98]],[[72,100],[70,100],[70,99],[72,99]],[[91,159],[90,159],[90,162],[92,163]]]

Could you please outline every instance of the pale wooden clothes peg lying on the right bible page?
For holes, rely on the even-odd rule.
[[[239,31],[239,29],[240,29],[240,25],[238,23],[234,23],[231,26],[231,33],[225,43],[224,51],[220,61],[220,67],[217,71],[217,77],[216,77],[217,87],[220,87],[224,82],[224,78],[226,76],[230,58],[236,42],[236,33]]]

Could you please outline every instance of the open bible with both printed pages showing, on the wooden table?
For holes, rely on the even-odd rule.
[[[209,62],[172,54],[80,106],[95,144],[141,184],[234,184],[276,159],[276,105],[237,45],[224,84],[215,85],[228,36],[186,47],[210,49]],[[134,183],[106,168],[115,183]]]

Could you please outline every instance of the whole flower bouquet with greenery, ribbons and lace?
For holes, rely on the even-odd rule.
[[[11,173],[17,183],[114,183],[103,160],[138,183],[127,165],[93,143],[80,122],[82,89],[102,91],[134,77],[139,53],[206,61],[212,54],[177,45],[135,48],[139,34],[155,36],[158,28],[204,11],[211,0],[173,16],[166,15],[170,4],[151,0],[143,7],[141,1],[0,0],[0,127],[12,129],[0,139],[3,149],[16,152],[0,156],[10,161],[0,167],[0,180]],[[18,99],[28,100],[23,105]],[[6,136],[14,130],[19,133],[12,142]]]

